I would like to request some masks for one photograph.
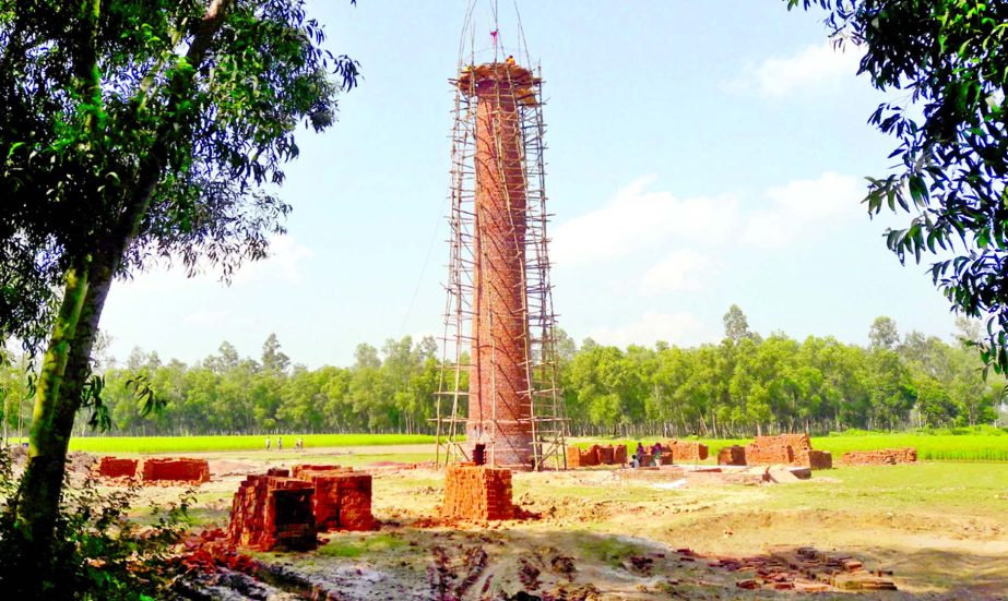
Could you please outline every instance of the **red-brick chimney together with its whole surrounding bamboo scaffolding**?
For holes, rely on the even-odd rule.
[[[564,469],[542,80],[511,57],[459,63],[437,462]]]

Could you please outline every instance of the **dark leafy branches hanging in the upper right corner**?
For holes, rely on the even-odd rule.
[[[981,357],[1008,371],[1008,2],[786,0],[829,12],[838,44],[887,100],[869,123],[898,142],[893,172],[868,178],[870,214],[912,217],[886,243],[901,262],[935,255],[930,274],[953,311],[986,320]]]

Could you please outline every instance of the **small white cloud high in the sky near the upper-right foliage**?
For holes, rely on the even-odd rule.
[[[724,87],[742,96],[781,98],[796,92],[833,92],[844,77],[857,73],[861,58],[850,45],[833,48],[832,43],[808,46],[786,57],[769,57],[749,65],[745,74]]]

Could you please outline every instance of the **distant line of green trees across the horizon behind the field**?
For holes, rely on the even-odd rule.
[[[590,338],[579,347],[560,332],[570,432],[749,436],[974,425],[997,419],[1004,399],[1004,380],[985,381],[975,351],[918,332],[900,336],[889,317],[871,325],[868,346],[763,338],[734,305],[724,323],[720,344],[693,348],[621,349]],[[963,339],[977,336],[969,322],[961,329]],[[105,363],[100,396],[112,431],[132,435],[432,433],[441,373],[434,338],[410,336],[380,349],[358,345],[345,368],[292,364],[275,335],[256,359],[225,341],[193,364],[140,349],[121,364]],[[15,431],[31,420],[14,402],[26,384],[16,363],[3,373],[4,430]],[[161,410],[144,411],[141,387]],[[80,416],[76,431],[90,432],[87,422]]]

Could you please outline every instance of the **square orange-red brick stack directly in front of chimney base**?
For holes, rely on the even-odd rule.
[[[449,518],[479,521],[512,519],[511,470],[473,464],[448,466],[442,513]]]

